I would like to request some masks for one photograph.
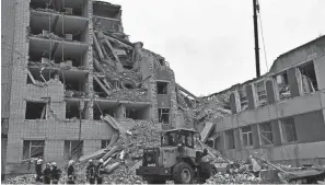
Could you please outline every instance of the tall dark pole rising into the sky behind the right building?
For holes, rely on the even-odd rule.
[[[259,48],[258,48],[258,26],[257,26],[257,0],[253,0],[253,10],[254,10],[254,38],[255,38],[255,62],[256,62],[256,78],[260,77],[259,70]]]

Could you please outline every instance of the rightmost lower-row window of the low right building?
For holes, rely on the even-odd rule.
[[[285,118],[281,123],[285,142],[295,142],[298,140],[298,136],[294,119],[292,117]]]

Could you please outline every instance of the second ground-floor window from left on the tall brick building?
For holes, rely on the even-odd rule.
[[[83,141],[66,140],[65,141],[65,157],[66,159],[78,159],[82,155]]]

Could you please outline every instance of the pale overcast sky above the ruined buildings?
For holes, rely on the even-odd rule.
[[[107,1],[121,5],[130,41],[165,57],[191,93],[208,95],[256,76],[252,0]],[[259,4],[268,68],[279,55],[325,34],[325,0]],[[262,39],[259,48],[265,73]]]

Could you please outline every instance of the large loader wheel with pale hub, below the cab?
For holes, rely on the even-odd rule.
[[[193,169],[186,162],[179,162],[173,167],[173,180],[175,184],[191,184]]]

